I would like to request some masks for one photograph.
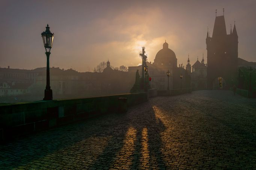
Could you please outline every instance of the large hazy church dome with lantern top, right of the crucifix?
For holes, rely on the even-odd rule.
[[[156,65],[172,65],[177,67],[177,58],[173,50],[168,48],[168,43],[163,44],[163,49],[155,55],[154,64]]]

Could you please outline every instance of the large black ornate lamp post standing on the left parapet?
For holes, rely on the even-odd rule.
[[[50,58],[50,51],[51,47],[53,46],[53,38],[54,34],[51,33],[50,27],[47,24],[47,27],[45,27],[46,30],[41,34],[43,38],[44,48],[45,48],[45,54],[47,57],[47,67],[46,67],[46,87],[44,90],[44,100],[52,100],[53,99],[53,90],[51,90],[50,86],[50,64],[49,64],[49,58]]]

